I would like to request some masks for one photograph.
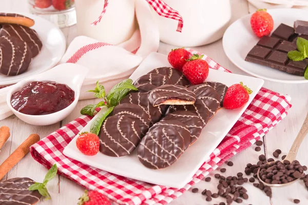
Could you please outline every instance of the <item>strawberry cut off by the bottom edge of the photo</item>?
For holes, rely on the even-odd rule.
[[[111,205],[109,200],[98,191],[87,191],[79,198],[78,205]]]

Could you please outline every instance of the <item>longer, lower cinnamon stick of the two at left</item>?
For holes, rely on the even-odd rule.
[[[2,165],[0,165],[0,180],[30,151],[30,147],[38,140],[40,140],[40,136],[31,134],[19,147],[17,147]]]

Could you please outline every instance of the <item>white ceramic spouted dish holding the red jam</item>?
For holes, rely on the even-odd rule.
[[[75,108],[80,90],[88,69],[78,64],[61,64],[44,73],[35,75],[31,78],[24,79],[13,85],[7,94],[7,104],[11,111],[21,120],[31,125],[45,126],[52,125],[67,117]],[[55,113],[47,115],[27,115],[16,111],[11,105],[11,96],[18,90],[24,88],[32,81],[55,81],[56,83],[66,84],[75,92],[75,99],[72,104]]]

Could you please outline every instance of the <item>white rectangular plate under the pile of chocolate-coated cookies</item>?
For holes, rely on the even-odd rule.
[[[130,78],[134,81],[152,69],[164,66],[170,67],[167,56],[159,53],[151,53],[136,69],[136,71],[134,71]],[[209,120],[206,127],[202,130],[199,139],[170,167],[161,170],[151,170],[144,167],[137,157],[137,149],[129,156],[124,157],[110,157],[103,155],[102,153],[98,153],[95,156],[86,156],[76,148],[76,137],[64,149],[63,153],[68,157],[85,163],[86,165],[128,178],[167,187],[184,187],[202,166],[202,163],[209,157],[210,153],[215,150],[221,140],[234,126],[235,122],[251,103],[264,83],[264,80],[259,78],[237,75],[213,69],[209,70],[209,75],[206,80],[218,81],[227,86],[242,81],[254,92],[249,96],[248,103],[242,108],[236,110],[220,109],[217,114]],[[90,125],[91,121],[81,132],[89,132]]]

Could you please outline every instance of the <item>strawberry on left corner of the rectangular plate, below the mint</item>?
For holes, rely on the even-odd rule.
[[[100,150],[100,138],[93,133],[81,133],[76,139],[76,146],[85,155],[95,155]]]

